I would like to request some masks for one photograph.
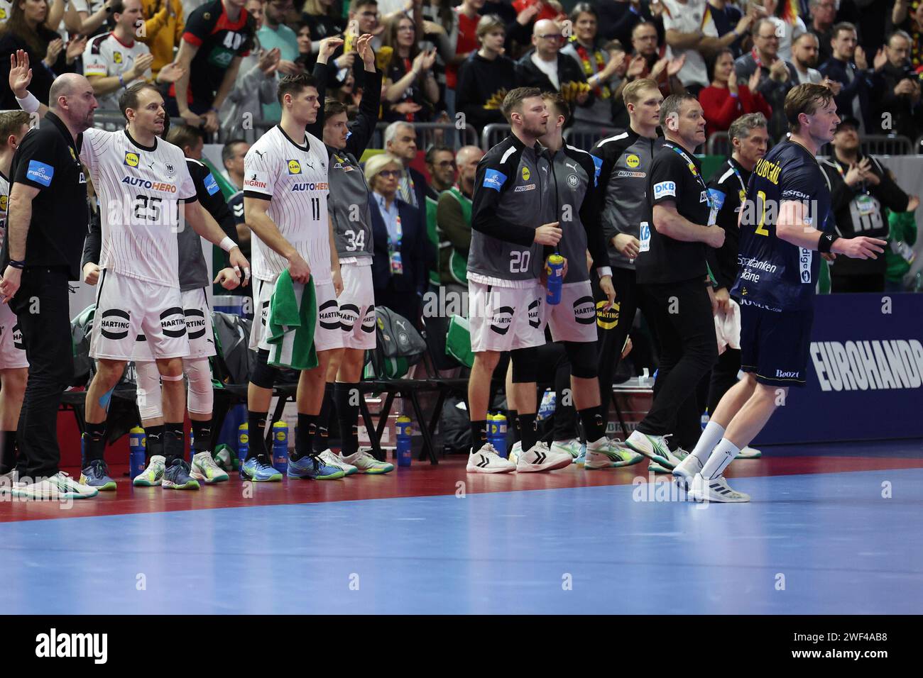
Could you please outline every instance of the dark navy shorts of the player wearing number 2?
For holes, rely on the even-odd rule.
[[[813,307],[775,312],[740,304],[740,369],[761,384],[803,387],[813,323]]]

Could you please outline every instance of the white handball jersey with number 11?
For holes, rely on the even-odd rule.
[[[298,146],[276,125],[246,153],[244,196],[270,200],[266,213],[318,285],[331,280],[329,193],[327,148],[318,137],[306,133],[305,145]],[[253,241],[253,275],[274,282],[288,261],[256,233]]]

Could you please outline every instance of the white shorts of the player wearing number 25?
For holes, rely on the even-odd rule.
[[[179,288],[102,270],[96,291],[90,357],[130,361],[142,332],[153,358],[189,355]]]

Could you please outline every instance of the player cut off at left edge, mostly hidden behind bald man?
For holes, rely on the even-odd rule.
[[[29,131],[29,113],[0,113],[0,247],[6,237],[6,203],[9,169],[19,141]],[[26,392],[29,362],[22,345],[22,333],[9,304],[0,303],[0,494],[16,479],[16,430],[19,410]]]

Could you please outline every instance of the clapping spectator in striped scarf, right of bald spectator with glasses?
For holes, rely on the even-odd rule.
[[[589,3],[578,3],[570,12],[573,35],[561,48],[581,66],[583,76],[593,88],[593,105],[578,108],[574,119],[587,125],[612,125],[612,92],[617,88],[617,71],[625,75],[628,66],[624,48],[615,58],[597,38],[598,18]]]

